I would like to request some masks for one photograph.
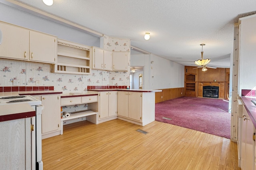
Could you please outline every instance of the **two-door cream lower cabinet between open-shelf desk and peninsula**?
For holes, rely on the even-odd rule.
[[[116,119],[117,117],[117,92],[99,92],[99,123]]]

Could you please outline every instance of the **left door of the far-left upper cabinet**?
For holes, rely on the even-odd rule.
[[[29,59],[29,31],[5,23],[0,23],[2,43],[0,57],[20,60]]]

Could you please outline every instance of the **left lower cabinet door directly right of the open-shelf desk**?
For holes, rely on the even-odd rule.
[[[100,92],[100,119],[108,117],[108,92]]]

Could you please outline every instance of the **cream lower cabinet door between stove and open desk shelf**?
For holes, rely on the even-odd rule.
[[[42,96],[42,133],[59,130],[60,127],[60,99],[57,95]]]

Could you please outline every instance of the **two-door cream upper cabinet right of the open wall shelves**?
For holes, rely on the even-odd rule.
[[[93,68],[100,70],[112,69],[112,51],[93,47]]]

